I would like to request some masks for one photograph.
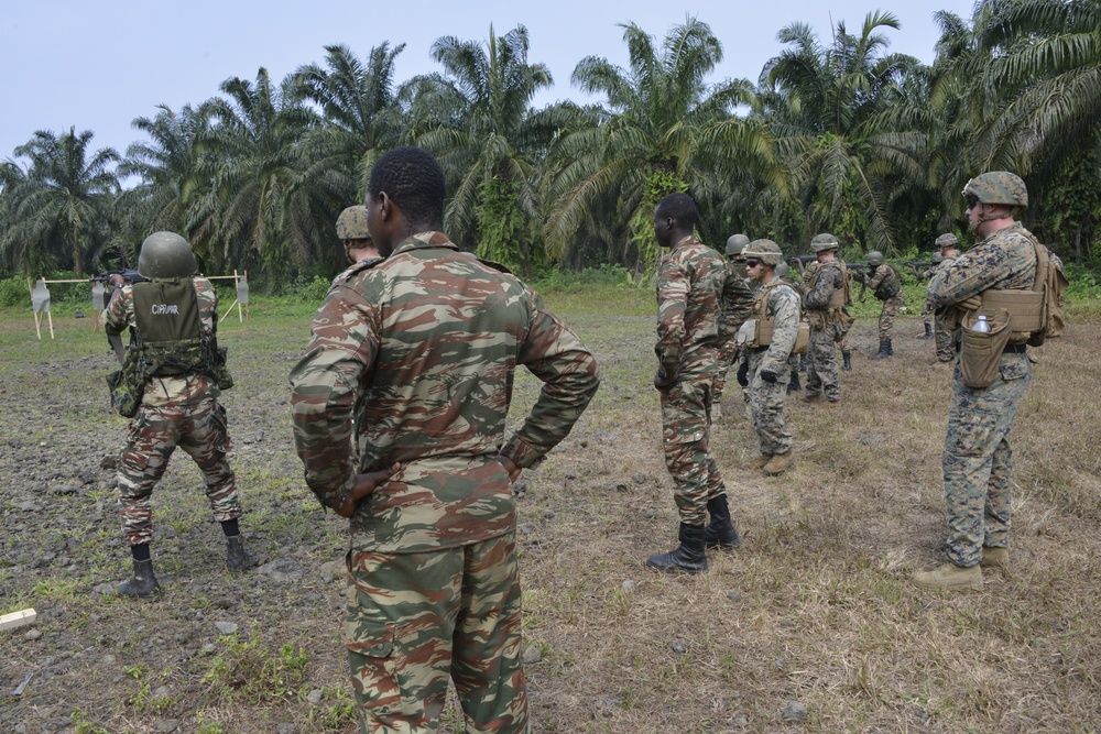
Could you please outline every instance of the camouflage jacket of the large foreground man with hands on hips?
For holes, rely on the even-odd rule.
[[[359,548],[422,552],[509,532],[515,505],[495,457],[535,467],[569,434],[599,385],[592,354],[537,293],[442,232],[358,267],[325,297],[291,371],[306,484],[331,507],[357,473],[402,463],[359,503]],[[505,442],[517,364],[545,384]]]

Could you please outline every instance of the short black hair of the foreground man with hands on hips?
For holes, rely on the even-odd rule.
[[[403,145],[390,151],[371,168],[367,191],[385,191],[414,226],[439,229],[444,224],[444,169],[419,147]]]

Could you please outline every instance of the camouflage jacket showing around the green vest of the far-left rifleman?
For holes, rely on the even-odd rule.
[[[206,335],[214,333],[218,326],[218,293],[210,281],[201,275],[196,275],[192,281],[195,283],[195,295],[198,298],[200,329]],[[122,333],[128,327],[135,327],[133,286],[122,286],[99,318],[107,333]],[[220,394],[217,383],[205,374],[153,377],[145,383],[142,405],[153,407],[190,405],[218,397]]]

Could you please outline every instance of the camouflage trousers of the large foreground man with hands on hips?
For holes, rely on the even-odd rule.
[[[342,638],[363,734],[435,732],[455,682],[470,734],[528,731],[514,532],[419,554],[348,551]]]

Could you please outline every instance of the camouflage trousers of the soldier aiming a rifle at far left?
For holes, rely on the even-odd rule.
[[[203,472],[215,519],[221,523],[241,516],[237,484],[226,457],[231,448],[226,408],[214,398],[194,405],[145,405],[130,421],[118,474],[122,532],[132,546],[153,538],[150,497],[177,446]]]

